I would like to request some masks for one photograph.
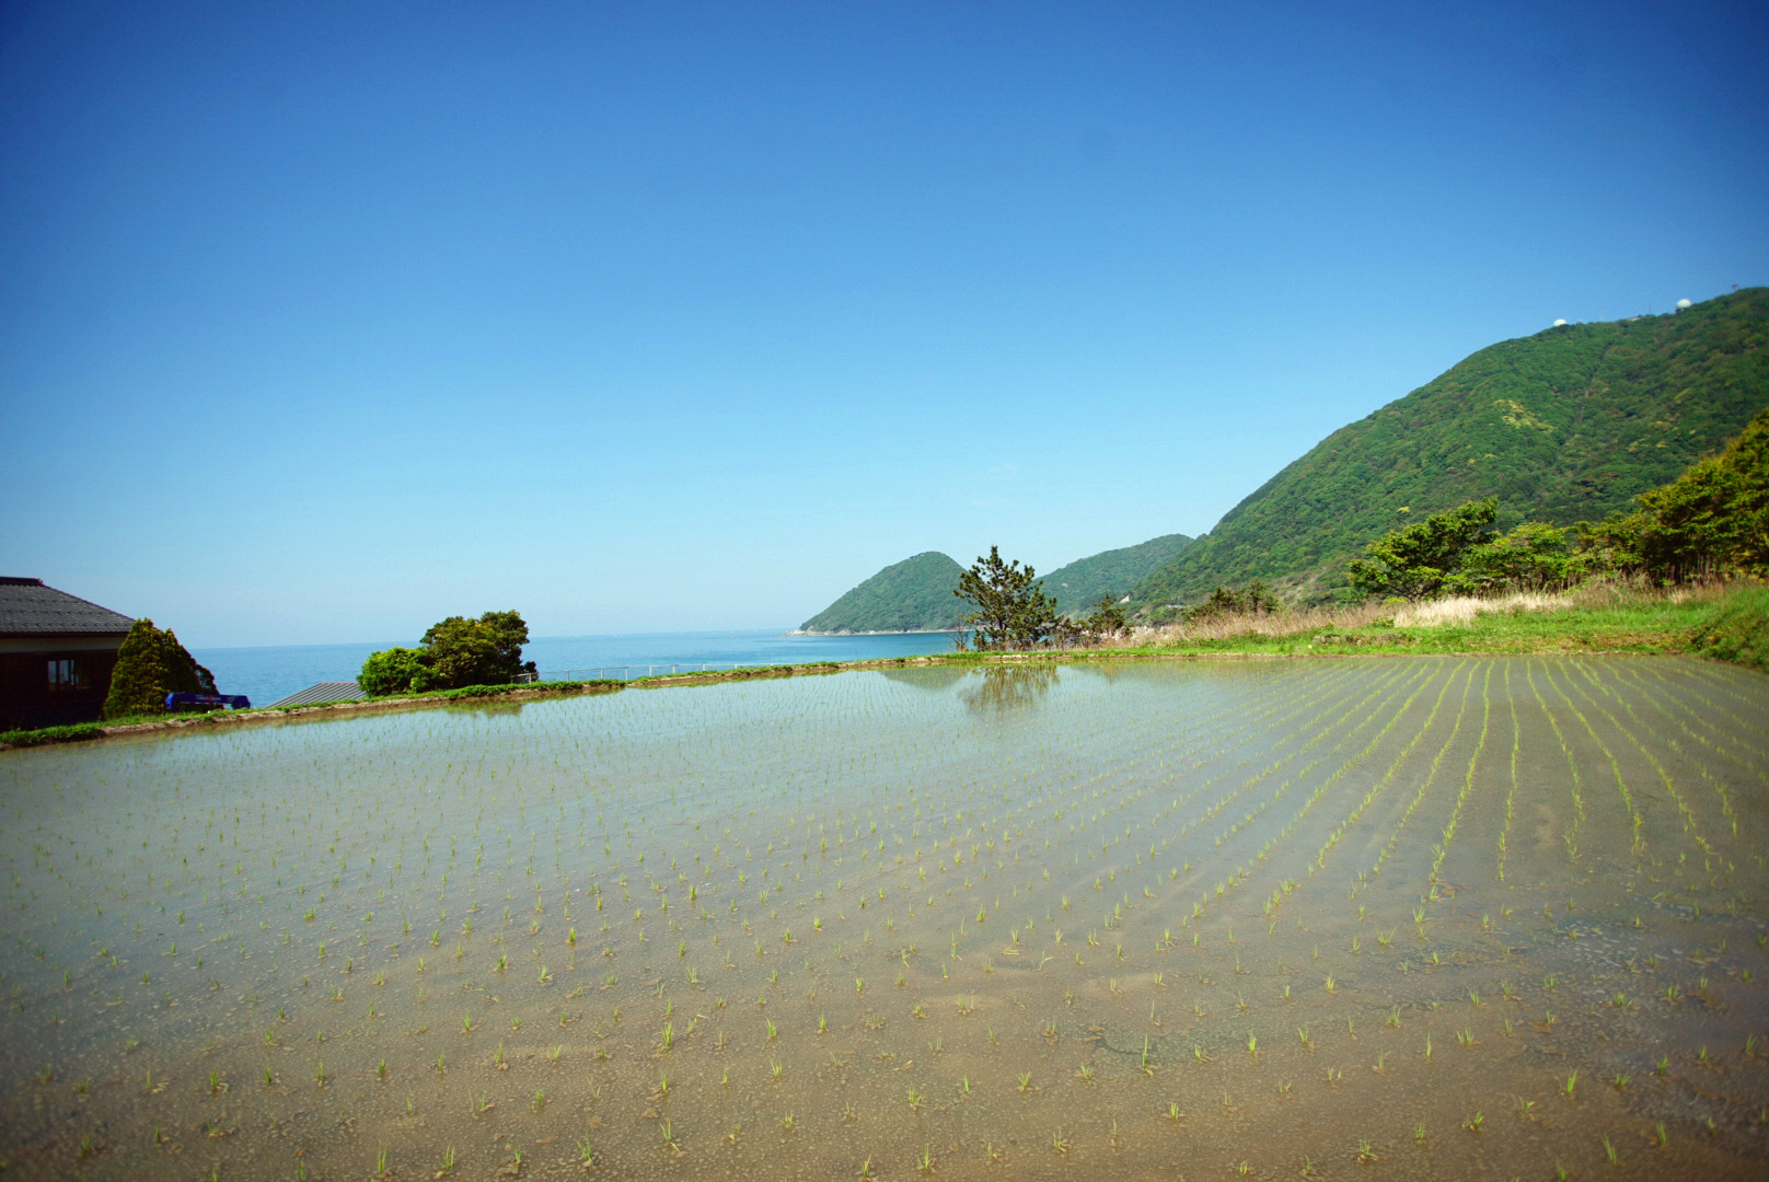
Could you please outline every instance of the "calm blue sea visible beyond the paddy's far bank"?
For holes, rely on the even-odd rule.
[[[223,694],[244,694],[255,706],[297,694],[320,681],[354,681],[370,653],[412,641],[363,644],[290,644],[207,648],[191,655],[216,676]],[[688,669],[798,665],[823,660],[877,660],[950,653],[952,633],[892,632],[881,635],[794,635],[791,632],[639,632],[628,635],[536,637],[522,658],[541,679],[644,678]]]

